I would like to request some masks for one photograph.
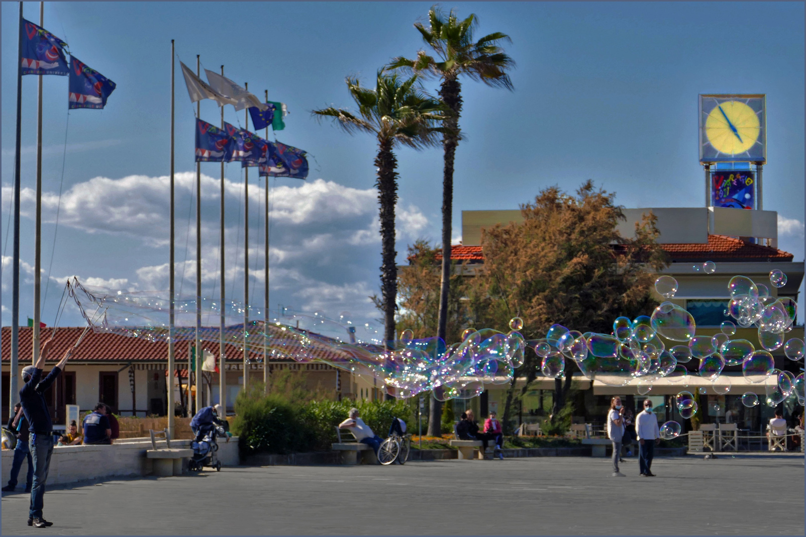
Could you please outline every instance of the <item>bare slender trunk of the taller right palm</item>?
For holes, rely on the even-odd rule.
[[[459,145],[459,113],[462,111],[462,86],[455,77],[442,81],[439,95],[453,114],[444,122],[449,131],[442,137],[445,166],[442,169],[442,283],[439,287],[437,337],[445,341],[448,321],[448,295],[451,291],[451,221],[453,219],[453,170],[456,146]],[[431,398],[428,435],[438,436],[442,422],[442,403]]]

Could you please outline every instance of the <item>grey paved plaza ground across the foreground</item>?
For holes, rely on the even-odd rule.
[[[2,497],[2,534],[804,535],[802,456],[234,467],[57,488],[53,527],[27,527],[27,494]]]

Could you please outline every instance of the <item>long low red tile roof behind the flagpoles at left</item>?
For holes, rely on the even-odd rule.
[[[56,329],[56,343],[50,351],[48,362],[59,361],[64,353],[73,343],[81,337],[84,332],[83,327],[65,327]],[[39,337],[41,341],[46,341],[52,333],[52,328],[41,328]],[[33,328],[27,326],[19,327],[19,363],[31,363],[31,338]],[[218,355],[218,344],[213,344],[213,352]],[[174,345],[174,359],[177,362],[188,362],[188,345],[181,341]],[[235,345],[226,345],[224,352],[227,360],[237,362],[243,360],[243,351]],[[251,353],[253,359],[260,357],[258,353]],[[11,327],[2,327],[2,362],[11,360]],[[167,362],[168,343],[162,341],[146,341],[139,337],[125,337],[112,333],[93,333],[89,331],[81,341],[81,345],[70,357],[72,362],[88,361],[132,361],[140,363]]]

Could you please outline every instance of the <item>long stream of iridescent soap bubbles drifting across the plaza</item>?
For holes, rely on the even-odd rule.
[[[716,265],[704,262],[699,270],[711,274]],[[786,275],[771,271],[770,283],[783,287]],[[528,346],[539,359],[538,374],[546,378],[562,377],[566,360],[572,360],[585,378],[607,386],[631,383],[638,394],[644,395],[650,393],[653,383],[660,378],[688,386],[689,376],[695,373],[684,364],[696,359],[699,361],[696,375],[709,382],[716,394],[731,390],[729,379],[722,377],[725,366],[742,366],[742,374],[748,381],[764,387],[767,404],[778,404],[793,393],[804,403],[804,374],[794,376],[775,369],[771,354],[783,346],[788,359],[798,361],[804,357],[804,341],[791,338],[784,342],[784,334],[791,331],[796,319],[794,300],[775,298],[767,286],[746,276],[734,276],[728,284],[727,308],[733,320],[722,322],[721,331],[714,336],[698,336],[692,314],[671,302],[679,288],[677,280],[662,275],[654,287],[667,301],[654,308],[650,316],[617,317],[612,333],[581,333],[552,324],[545,337],[526,340],[521,334],[524,321],[514,317],[509,321],[507,333],[492,328],[467,328],[462,341],[452,345],[437,337],[414,339],[410,330],[403,331],[395,341],[383,341],[372,323],[354,323],[348,312],[330,319],[323,312],[292,315],[284,311],[279,319],[266,322],[260,308],[250,308],[252,320],[244,325],[247,308],[243,304],[222,305],[203,299],[198,305],[202,318],[208,319],[202,322],[203,326],[216,326],[221,316],[225,316],[226,343],[235,345],[239,353],[247,349],[256,361],[268,356],[302,363],[324,362],[377,378],[389,394],[399,398],[432,390],[441,400],[476,397],[487,384],[510,382],[514,371],[523,365]],[[177,327],[169,333],[170,305],[160,293],[88,289],[77,280],[69,289],[82,314],[98,332],[149,341],[196,338],[197,303],[193,299],[177,301],[174,306]],[[98,311],[102,315],[98,316]],[[757,327],[762,348],[756,349],[746,339],[734,339],[737,325]],[[199,337],[215,344],[221,334],[220,328],[202,328]],[[215,345],[213,348],[218,349]],[[758,404],[758,398],[753,403],[750,395],[754,394],[748,392],[742,402],[746,406]],[[678,394],[676,406],[683,418],[690,418],[697,411],[688,391]]]

